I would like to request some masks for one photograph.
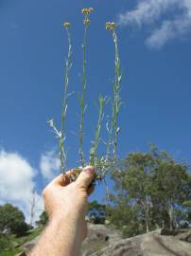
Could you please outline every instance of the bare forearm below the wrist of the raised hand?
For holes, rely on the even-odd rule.
[[[78,256],[81,239],[78,220],[69,216],[49,222],[31,256]]]

